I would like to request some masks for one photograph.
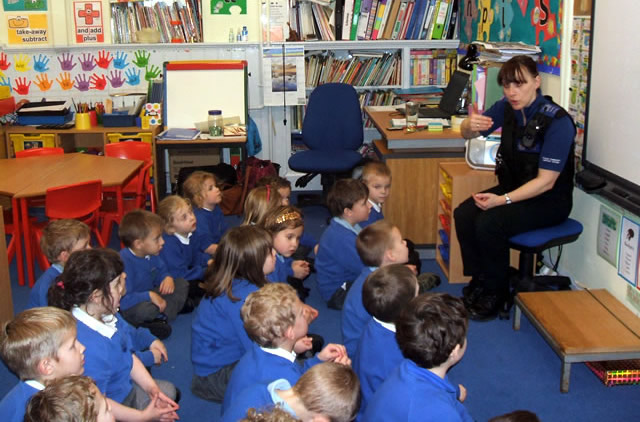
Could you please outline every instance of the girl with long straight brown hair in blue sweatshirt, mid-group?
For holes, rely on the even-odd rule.
[[[231,228],[222,237],[191,324],[191,391],[222,402],[231,371],[251,348],[240,318],[250,293],[268,283],[275,267],[271,235],[257,226]]]

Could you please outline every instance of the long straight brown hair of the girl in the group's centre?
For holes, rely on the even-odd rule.
[[[271,234],[258,226],[238,226],[229,229],[218,244],[205,274],[205,296],[216,298],[224,293],[232,301],[234,278],[241,278],[262,287],[267,283],[262,270],[273,249]]]

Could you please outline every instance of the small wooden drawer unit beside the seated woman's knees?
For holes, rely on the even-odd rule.
[[[438,226],[436,261],[449,283],[466,283],[471,279],[462,274],[462,257],[453,210],[471,194],[497,184],[498,179],[492,171],[474,170],[466,162],[440,163],[435,207]]]

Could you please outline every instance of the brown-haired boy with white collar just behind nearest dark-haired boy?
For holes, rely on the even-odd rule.
[[[417,294],[418,280],[406,265],[381,267],[364,283],[362,302],[373,318],[364,328],[353,359],[353,369],[360,378],[362,389],[361,413],[380,384],[402,361],[395,322]]]

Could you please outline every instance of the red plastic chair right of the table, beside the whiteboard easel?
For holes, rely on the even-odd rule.
[[[104,155],[107,157],[125,158],[131,160],[144,161],[140,172],[122,189],[123,205],[125,212],[145,208],[147,195],[151,201],[151,211],[156,212],[156,194],[151,183],[151,167],[153,158],[151,155],[151,144],[146,142],[118,142],[107,144],[104,148]],[[117,213],[108,209],[108,203],[115,197],[115,191],[110,188],[104,189],[105,206],[103,207],[102,237],[108,241],[111,238],[111,227],[113,222],[120,223]],[[107,208],[107,209],[105,209]],[[113,208],[113,204],[111,207]]]

